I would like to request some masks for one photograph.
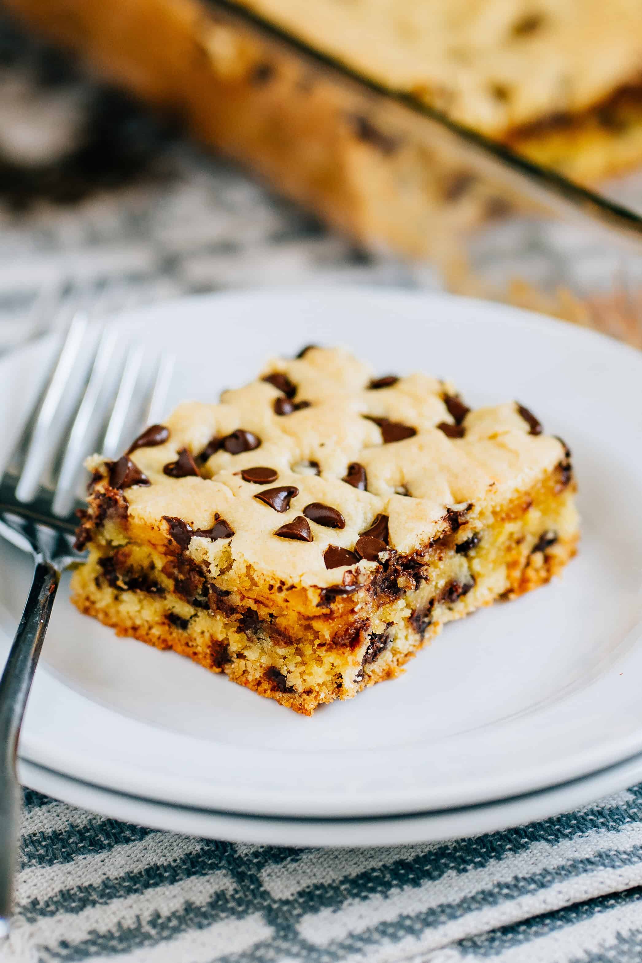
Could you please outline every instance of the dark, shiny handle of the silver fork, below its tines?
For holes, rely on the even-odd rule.
[[[17,864],[18,736],[60,577],[55,565],[37,556],[29,598],[0,679],[0,937],[9,933]]]

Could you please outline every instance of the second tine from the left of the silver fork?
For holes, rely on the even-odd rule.
[[[52,511],[59,517],[64,517],[73,508],[76,496],[75,482],[90,447],[88,435],[92,430],[91,423],[94,421],[96,410],[104,401],[110,373],[113,370],[114,351],[120,337],[121,332],[116,327],[104,328],[100,336],[90,379],[69,433],[56,484]]]

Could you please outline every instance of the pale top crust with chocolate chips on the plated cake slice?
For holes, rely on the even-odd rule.
[[[373,379],[347,351],[309,348],[218,404],[179,405],[130,461],[90,467],[122,489],[135,539],[167,542],[172,525],[180,539],[185,522],[213,573],[331,586],[346,564],[362,582],[379,553],[425,547],[453,512],[509,502],[564,454],[518,403],[471,411],[436,378]]]

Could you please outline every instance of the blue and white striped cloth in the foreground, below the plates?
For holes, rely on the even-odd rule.
[[[210,842],[25,792],[3,963],[639,963],[642,786],[475,839]]]

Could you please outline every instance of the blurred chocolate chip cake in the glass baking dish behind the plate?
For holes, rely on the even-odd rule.
[[[642,161],[637,0],[243,0],[295,44],[215,0],[8,6],[368,247],[441,263],[525,198],[301,40],[582,183]]]

